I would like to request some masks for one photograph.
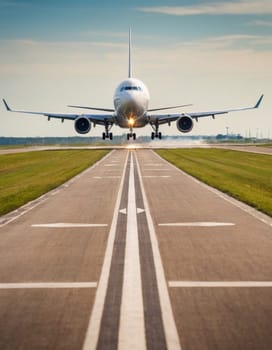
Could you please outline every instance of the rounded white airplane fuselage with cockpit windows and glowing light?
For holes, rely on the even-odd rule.
[[[149,92],[142,81],[135,78],[122,81],[115,90],[113,103],[116,122],[121,128],[140,128],[147,124]]]

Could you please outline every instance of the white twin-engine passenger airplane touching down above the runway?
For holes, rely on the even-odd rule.
[[[216,115],[227,114],[229,112],[245,111],[256,109],[260,106],[263,99],[263,95],[260,96],[257,103],[253,107],[243,108],[232,108],[224,110],[215,110],[208,112],[180,112],[180,113],[168,113],[168,114],[157,114],[154,112],[169,110],[174,108],[182,108],[191,106],[179,105],[170,107],[160,107],[149,109],[150,95],[146,85],[139,79],[132,77],[132,60],[131,60],[131,30],[129,30],[129,45],[128,45],[128,78],[123,80],[116,88],[113,96],[114,108],[101,108],[101,107],[90,107],[90,106],[76,106],[69,105],[68,107],[96,110],[100,112],[107,112],[105,114],[58,114],[58,113],[47,113],[47,112],[32,112],[32,111],[20,111],[13,110],[9,107],[6,100],[3,99],[3,103],[8,112],[26,113],[43,115],[50,120],[51,118],[64,120],[73,120],[74,128],[79,134],[87,134],[92,125],[102,125],[105,127],[105,132],[102,133],[103,140],[112,140],[113,134],[110,132],[114,125],[118,125],[121,128],[129,129],[127,133],[127,140],[133,138],[136,139],[135,128],[142,128],[146,125],[150,125],[153,129],[151,133],[151,139],[162,138],[162,134],[159,131],[159,127],[162,124],[170,126],[171,122],[176,121],[177,129],[182,133],[188,133],[193,129],[194,120],[198,121],[199,118],[211,116],[213,119]]]

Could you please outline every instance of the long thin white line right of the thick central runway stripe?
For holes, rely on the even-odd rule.
[[[162,319],[163,319],[167,349],[179,350],[181,349],[180,342],[179,342],[179,335],[178,335],[177,327],[174,320],[173,310],[171,307],[170,297],[168,294],[168,286],[166,283],[164,269],[163,269],[160,251],[159,251],[159,244],[157,241],[157,236],[155,233],[147,197],[145,194],[143,179],[141,176],[140,166],[137,160],[137,155],[136,155],[136,163],[137,163],[138,173],[140,175],[139,176],[140,186],[143,194],[143,201],[144,201],[144,207],[146,212],[148,229],[150,232],[150,239],[151,239],[153,257],[154,257],[154,264],[155,264],[156,277],[157,277],[157,283],[158,283],[159,298],[160,298],[160,304],[161,304]]]

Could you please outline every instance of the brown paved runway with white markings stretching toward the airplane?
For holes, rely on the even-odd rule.
[[[0,221],[1,349],[270,349],[272,219],[120,149]]]

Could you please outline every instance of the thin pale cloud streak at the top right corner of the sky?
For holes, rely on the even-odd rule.
[[[272,1],[240,0],[232,2],[207,2],[192,6],[140,7],[138,10],[172,16],[271,14]]]

